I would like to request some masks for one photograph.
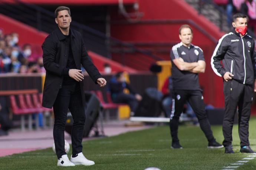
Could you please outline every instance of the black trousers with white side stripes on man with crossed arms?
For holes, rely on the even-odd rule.
[[[173,108],[170,117],[170,131],[173,142],[179,142],[178,139],[178,121],[183,112],[184,103],[188,101],[196,113],[200,128],[204,132],[208,142],[214,139],[211,126],[206,115],[202,92],[199,90],[175,90],[173,94]]]

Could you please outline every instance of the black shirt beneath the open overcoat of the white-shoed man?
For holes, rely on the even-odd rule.
[[[69,35],[65,35],[66,37],[66,43],[68,44],[68,62],[66,65],[66,68],[69,69],[76,69],[76,64],[75,64],[75,60],[73,57],[73,53],[72,53],[72,47],[71,47],[71,40],[70,40],[70,34]],[[69,75],[64,76],[63,79],[63,84],[75,84],[77,81],[73,78],[71,78]]]

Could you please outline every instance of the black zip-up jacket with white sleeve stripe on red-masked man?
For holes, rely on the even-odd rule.
[[[222,60],[222,64],[221,61]],[[246,33],[243,37],[233,29],[232,32],[220,38],[211,57],[213,71],[223,76],[232,73],[236,81],[252,85],[256,77],[255,42]]]

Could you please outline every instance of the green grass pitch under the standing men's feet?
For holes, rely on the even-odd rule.
[[[256,150],[256,117],[250,120],[250,144]],[[223,141],[221,126],[212,126],[218,142]],[[128,132],[122,135],[83,142],[83,153],[95,161],[93,166],[57,167],[52,148],[0,157],[0,169],[19,170],[215,170],[224,169],[250,154],[239,153],[238,126],[233,128],[235,154],[224,154],[224,149],[208,149],[200,127],[182,125],[179,138],[183,149],[171,149],[168,126]],[[18,146],[17,146],[18,147]],[[72,153],[71,149],[68,153]],[[256,169],[256,158],[240,165],[236,170]]]

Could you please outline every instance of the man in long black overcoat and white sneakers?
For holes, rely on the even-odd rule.
[[[87,160],[82,154],[86,115],[81,64],[95,84],[103,87],[106,80],[88,57],[81,33],[70,29],[70,9],[58,7],[55,10],[55,17],[58,29],[48,35],[42,45],[43,65],[46,69],[42,105],[46,108],[53,107],[54,111],[53,138],[58,157],[57,166],[93,165],[95,163]],[[68,109],[74,119],[70,160],[65,152],[64,140]]]

